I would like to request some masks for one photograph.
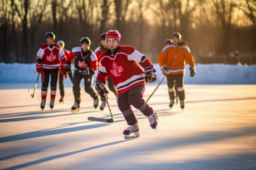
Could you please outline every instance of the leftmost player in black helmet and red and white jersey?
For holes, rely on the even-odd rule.
[[[41,110],[43,111],[47,96],[47,88],[50,79],[50,109],[54,107],[56,97],[56,86],[59,76],[59,67],[65,70],[65,53],[63,49],[53,41],[55,34],[47,32],[45,34],[46,43],[38,50],[36,70],[41,73]],[[61,60],[61,61],[60,61]]]

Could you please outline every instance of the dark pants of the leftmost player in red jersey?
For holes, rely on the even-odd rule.
[[[50,98],[55,99],[56,97],[56,86],[58,82],[59,68],[54,70],[45,70],[41,73],[41,97],[45,99],[47,96],[47,88],[50,80]]]

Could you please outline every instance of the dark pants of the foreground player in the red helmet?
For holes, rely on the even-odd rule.
[[[123,113],[128,125],[133,125],[137,123],[136,116],[131,108],[131,105],[136,109],[139,109],[145,116],[152,114],[153,110],[148,103],[142,98],[145,92],[145,85],[138,85],[130,88],[129,91],[118,95],[118,107]]]

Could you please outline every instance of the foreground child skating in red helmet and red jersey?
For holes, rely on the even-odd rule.
[[[108,48],[99,56],[99,72],[96,79],[96,91],[105,97],[108,90],[105,80],[110,77],[117,88],[118,107],[129,127],[123,131],[125,139],[139,137],[138,121],[131,105],[148,117],[152,129],[157,130],[157,113],[142,98],[145,82],[155,82],[157,73],[151,61],[132,46],[120,46],[121,35],[117,30],[110,30],[105,35]],[[144,68],[145,71],[142,70]],[[134,136],[130,136],[134,133]]]

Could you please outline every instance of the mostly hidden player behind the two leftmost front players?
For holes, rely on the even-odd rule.
[[[57,43],[59,44],[59,46],[62,47],[62,49],[64,50],[65,55],[67,57],[69,55],[69,50],[65,49],[64,41],[63,40],[59,40]],[[65,64],[65,62],[63,64]],[[64,95],[65,95],[65,93],[64,93],[64,79],[66,79],[66,76],[67,76],[66,73],[67,73],[66,71],[64,71],[64,72],[62,72],[61,70],[59,71],[59,93],[60,93],[59,103],[64,103]],[[69,74],[70,80],[73,82],[72,69],[70,69],[68,74]]]

